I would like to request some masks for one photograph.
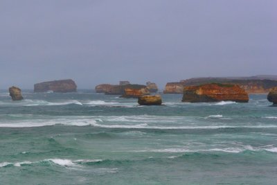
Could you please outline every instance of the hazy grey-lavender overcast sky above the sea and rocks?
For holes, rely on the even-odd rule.
[[[276,0],[0,1],[0,89],[276,75]]]

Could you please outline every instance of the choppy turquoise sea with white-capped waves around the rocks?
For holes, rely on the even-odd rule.
[[[0,92],[0,184],[277,184],[277,107]]]

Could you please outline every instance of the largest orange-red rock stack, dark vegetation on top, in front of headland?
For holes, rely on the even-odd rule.
[[[238,85],[206,84],[184,87],[183,102],[217,102],[235,101],[247,103],[249,97],[247,92]]]

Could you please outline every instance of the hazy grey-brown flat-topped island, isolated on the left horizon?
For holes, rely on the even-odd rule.
[[[77,85],[71,79],[41,82],[34,85],[34,92],[53,91],[57,93],[75,92]]]

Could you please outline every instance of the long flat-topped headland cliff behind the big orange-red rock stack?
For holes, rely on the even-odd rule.
[[[249,78],[190,78],[188,80],[181,80],[180,82],[169,82],[163,91],[165,94],[181,94],[181,89],[191,85],[204,85],[208,83],[222,83],[239,85],[248,94],[266,94],[269,89],[277,86],[277,80],[260,80],[260,76]],[[271,78],[272,79],[272,78]]]

